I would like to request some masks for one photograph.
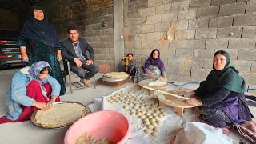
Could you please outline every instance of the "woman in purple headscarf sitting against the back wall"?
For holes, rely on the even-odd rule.
[[[142,75],[144,73],[148,74],[150,77]],[[160,51],[158,49],[152,50],[150,58],[145,62],[145,65],[137,68],[135,74],[135,82],[140,82],[144,79],[154,78],[154,77],[166,77],[165,64],[160,58]]]

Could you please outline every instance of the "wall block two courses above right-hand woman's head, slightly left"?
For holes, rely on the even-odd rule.
[[[196,30],[195,39],[216,38],[217,29],[198,29]]]

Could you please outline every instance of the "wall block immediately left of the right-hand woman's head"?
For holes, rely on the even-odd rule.
[[[214,50],[194,50],[194,59],[213,59]]]

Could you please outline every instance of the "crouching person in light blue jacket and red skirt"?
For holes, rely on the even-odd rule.
[[[34,110],[48,110],[60,101],[61,86],[49,75],[50,70],[47,62],[39,61],[14,75],[6,95],[7,114],[0,118],[0,124],[29,120]]]

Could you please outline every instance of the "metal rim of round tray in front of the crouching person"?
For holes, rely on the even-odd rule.
[[[70,102],[70,101],[54,102],[53,104],[54,104],[54,105],[59,105],[59,104],[62,104],[62,103],[77,103],[78,105],[84,106],[82,103],[79,103],[79,102]],[[86,109],[86,112],[85,112],[85,114],[82,114],[82,116],[81,116],[80,118],[82,118],[83,116],[85,116],[85,115],[87,114],[87,108],[86,108],[86,106],[84,106],[84,107],[85,107],[85,109]],[[51,128],[50,128],[50,127],[41,126],[41,125],[39,125],[39,124],[36,122],[36,120],[35,120],[35,114],[37,114],[37,112],[38,112],[38,110],[35,110],[34,113],[31,114],[31,116],[30,116],[30,120],[31,120],[32,123],[34,123],[35,126],[42,127],[42,128],[45,128],[45,129],[61,129],[61,128],[67,127],[67,126],[59,126],[59,127],[51,127]],[[78,118],[78,119],[79,119],[79,118]],[[70,124],[70,125],[72,125],[72,124]],[[70,125],[68,125],[68,126],[70,126]]]

